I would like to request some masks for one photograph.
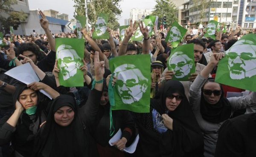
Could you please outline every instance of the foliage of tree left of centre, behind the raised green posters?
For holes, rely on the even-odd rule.
[[[84,0],[74,0],[75,14],[85,16]],[[117,16],[122,12],[119,3],[121,0],[88,0],[88,20],[91,25],[96,23],[99,13],[109,14],[108,26],[116,30],[119,28]]]

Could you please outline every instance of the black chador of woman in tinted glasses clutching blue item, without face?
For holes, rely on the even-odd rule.
[[[173,93],[183,96],[174,111],[168,111],[173,119],[173,130],[160,135],[160,154],[165,157],[200,157],[204,152],[204,141],[199,125],[186,98],[182,83],[167,81],[160,90],[158,99],[151,99],[151,106],[161,115],[166,113],[166,97]]]

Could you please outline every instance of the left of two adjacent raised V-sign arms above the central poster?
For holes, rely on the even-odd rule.
[[[129,42],[131,36],[133,35],[134,31],[136,30],[135,26],[136,26],[136,21],[134,21],[134,24],[132,26],[132,20],[130,20],[130,26],[127,29],[125,29],[125,37],[124,37],[124,39],[122,41],[122,44],[121,44],[121,46],[119,47],[119,50],[118,50],[118,55],[119,56],[125,54],[126,49],[127,49],[127,44]]]

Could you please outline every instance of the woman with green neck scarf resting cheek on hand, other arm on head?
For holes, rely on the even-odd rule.
[[[12,142],[16,157],[31,157],[35,134],[46,120],[45,108],[49,99],[39,91],[43,89],[53,99],[59,94],[44,83],[34,82],[17,86],[14,94],[15,111],[0,128],[0,145]]]

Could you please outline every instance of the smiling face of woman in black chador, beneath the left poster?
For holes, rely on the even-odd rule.
[[[70,106],[62,106],[54,113],[54,120],[60,126],[68,126],[74,119],[75,112]]]

